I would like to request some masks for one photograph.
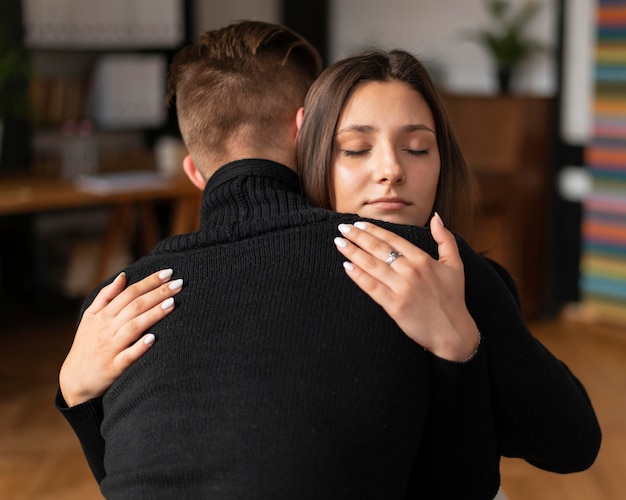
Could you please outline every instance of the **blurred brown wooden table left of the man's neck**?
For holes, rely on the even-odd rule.
[[[138,217],[142,233],[142,251],[148,252],[159,240],[156,202],[168,201],[172,207],[170,235],[198,228],[202,193],[186,178],[163,179],[158,185],[124,188],[96,194],[78,189],[59,179],[34,177],[0,178],[0,216],[38,214],[87,207],[110,206],[108,226],[95,273],[96,283],[105,278],[120,236],[133,230],[133,216]]]

